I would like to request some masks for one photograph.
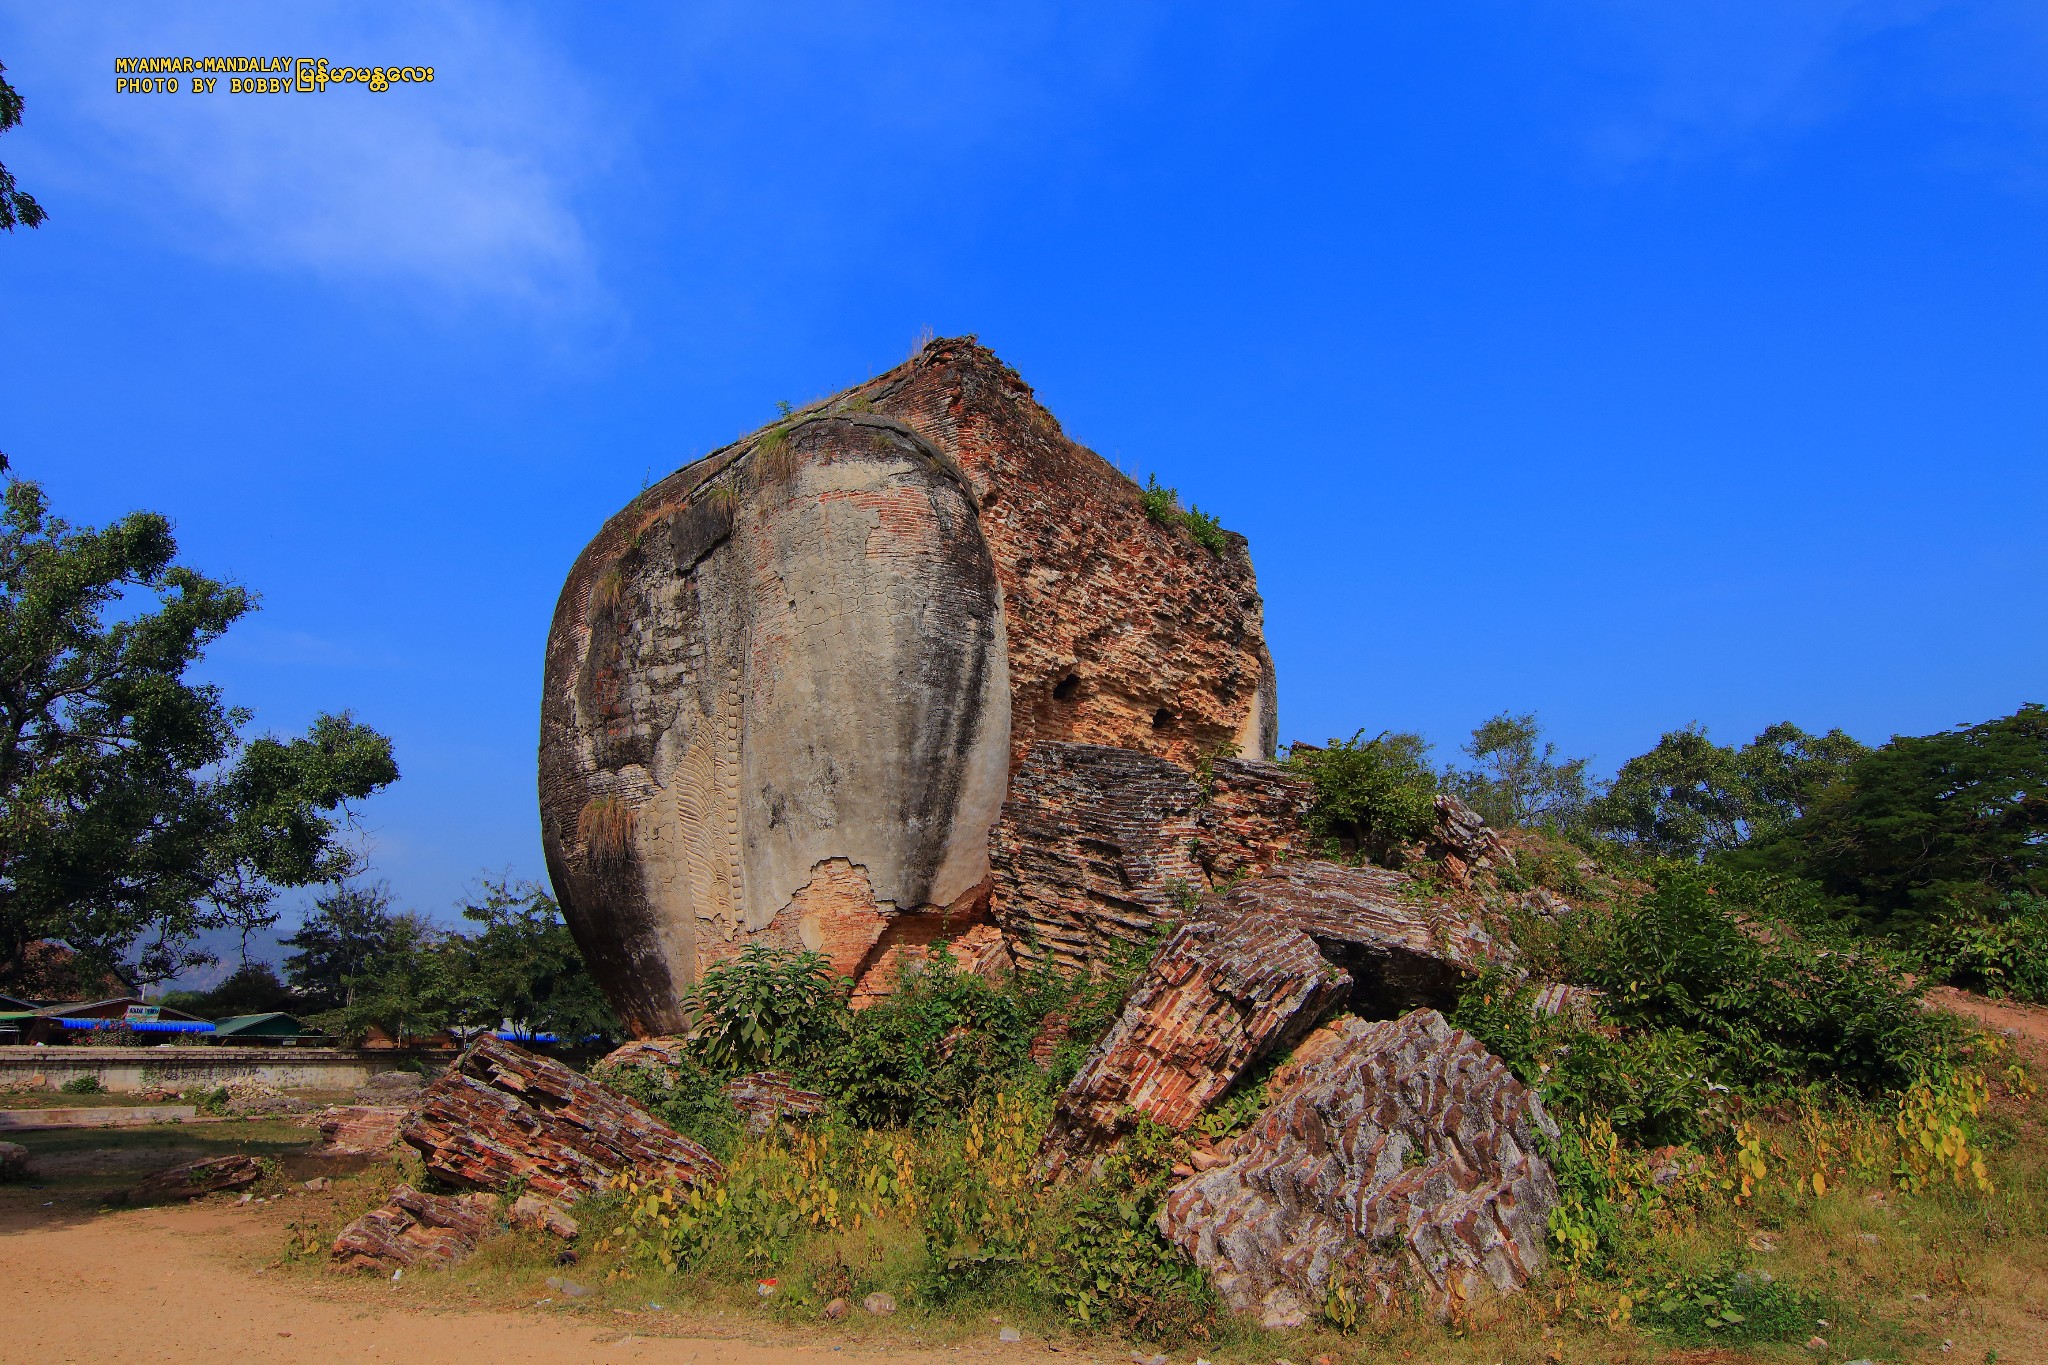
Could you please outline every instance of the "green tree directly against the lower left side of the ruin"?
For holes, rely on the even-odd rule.
[[[618,1038],[618,1017],[598,990],[555,898],[532,882],[485,878],[463,905],[481,929],[467,937],[471,993],[496,1019],[563,1042]]]

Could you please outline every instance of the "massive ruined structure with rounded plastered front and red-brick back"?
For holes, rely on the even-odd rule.
[[[674,1031],[750,939],[862,978],[987,925],[1042,745],[1192,774],[1270,757],[1274,702],[1243,538],[1151,520],[1014,370],[940,340],[662,479],[578,557],[541,708],[549,876],[627,1023]]]

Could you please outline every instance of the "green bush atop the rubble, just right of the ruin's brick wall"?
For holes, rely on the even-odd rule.
[[[1401,845],[1436,827],[1436,774],[1419,735],[1364,735],[1331,739],[1323,749],[1294,745],[1288,765],[1315,784],[1309,833],[1319,843],[1393,862]]]

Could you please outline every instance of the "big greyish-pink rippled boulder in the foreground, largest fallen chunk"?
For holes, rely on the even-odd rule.
[[[1159,1230],[1239,1312],[1288,1316],[1341,1279],[1450,1310],[1544,1265],[1556,1181],[1542,1101],[1432,1009],[1319,1029],[1268,1083],[1233,1158],[1167,1191]]]

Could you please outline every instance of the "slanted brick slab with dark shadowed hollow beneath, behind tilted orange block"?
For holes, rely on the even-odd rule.
[[[1505,948],[1477,919],[1423,896],[1419,882],[1389,868],[1290,862],[1223,898],[1225,913],[1294,925],[1350,972],[1350,1005],[1391,1017],[1427,1005],[1450,1009],[1464,982]]]

